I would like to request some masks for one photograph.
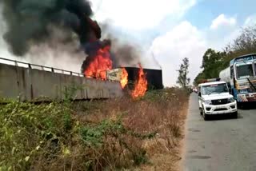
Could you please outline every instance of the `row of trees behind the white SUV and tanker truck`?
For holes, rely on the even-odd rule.
[[[238,38],[234,39],[224,50],[206,50],[202,56],[203,69],[194,79],[194,85],[198,85],[202,80],[218,78],[221,70],[230,65],[230,60],[243,54],[256,53],[256,25],[242,29]]]

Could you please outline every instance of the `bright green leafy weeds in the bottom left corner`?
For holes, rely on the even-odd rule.
[[[68,122],[71,121],[66,119],[70,109],[55,103],[33,105],[12,101],[3,105],[0,113],[2,168],[29,168],[35,157],[44,153],[41,149],[47,151],[56,140],[62,143],[61,139],[66,138],[70,130]]]

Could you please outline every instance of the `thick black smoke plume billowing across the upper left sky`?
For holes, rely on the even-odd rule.
[[[18,56],[32,45],[47,42],[49,26],[78,34],[81,44],[101,38],[97,22],[90,20],[93,12],[86,0],[0,0],[0,6],[7,24],[4,39]]]

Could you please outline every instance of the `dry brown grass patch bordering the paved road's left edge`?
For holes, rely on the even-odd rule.
[[[91,102],[78,105],[88,106]],[[93,103],[87,115],[79,114],[78,120],[86,122],[102,121],[116,118],[124,113],[123,122],[126,127],[137,133],[154,133],[150,140],[132,141],[139,148],[146,150],[149,159],[145,165],[136,167],[138,170],[178,170],[181,159],[180,141],[183,138],[183,125],[186,119],[188,96],[181,89],[165,89],[147,93],[139,100],[130,97],[111,101]],[[80,111],[84,113],[84,111]]]

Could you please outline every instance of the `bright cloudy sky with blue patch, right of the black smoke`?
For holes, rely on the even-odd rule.
[[[94,19],[139,45],[142,66],[162,68],[165,86],[176,84],[182,58],[190,60],[193,81],[208,48],[222,50],[243,27],[256,24],[255,6],[255,0],[92,1]]]

